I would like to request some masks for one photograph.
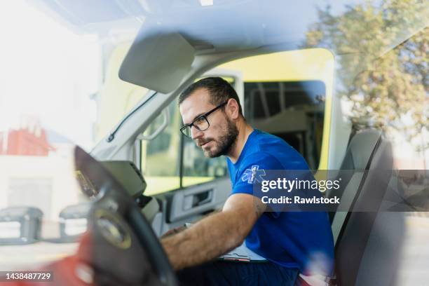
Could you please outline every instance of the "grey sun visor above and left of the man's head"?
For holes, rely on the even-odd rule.
[[[193,46],[179,33],[139,35],[121,64],[119,78],[170,93],[191,69],[194,53]]]

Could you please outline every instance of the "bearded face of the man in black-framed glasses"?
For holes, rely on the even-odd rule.
[[[214,109],[210,103],[210,95],[205,88],[194,91],[180,104],[180,114],[184,124],[191,123],[195,118]],[[226,105],[224,108],[227,108]],[[206,157],[214,158],[228,155],[236,142],[238,129],[223,109],[217,109],[207,116],[210,127],[200,131],[194,126],[191,128],[191,137],[197,146],[203,149]]]

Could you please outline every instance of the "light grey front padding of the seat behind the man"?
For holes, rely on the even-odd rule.
[[[362,130],[350,140],[343,163],[336,176],[341,178],[340,188],[332,189],[327,193],[328,198],[335,196],[341,198],[341,203],[336,209],[343,210],[335,212],[335,209],[329,212],[335,242],[338,239],[344,219],[346,219],[346,210],[350,210],[357,189],[359,189],[359,185],[364,179],[364,171],[369,170],[372,158],[374,158],[374,151],[376,151],[381,136],[382,132],[379,130]]]

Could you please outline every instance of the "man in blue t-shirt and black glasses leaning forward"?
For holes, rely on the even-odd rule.
[[[327,214],[266,212],[266,205],[253,194],[255,176],[249,172],[308,170],[304,158],[282,139],[248,125],[236,91],[219,77],[189,86],[179,97],[179,109],[181,131],[205,156],[226,156],[232,182],[222,212],[161,240],[182,284],[294,285],[299,273],[309,279],[332,273]],[[214,260],[243,240],[268,262]]]

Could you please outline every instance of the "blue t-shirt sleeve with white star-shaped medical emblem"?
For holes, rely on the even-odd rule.
[[[261,183],[269,170],[282,170],[282,164],[271,154],[258,153],[245,158],[238,170],[236,184],[231,195],[248,193],[254,195],[254,184]]]

